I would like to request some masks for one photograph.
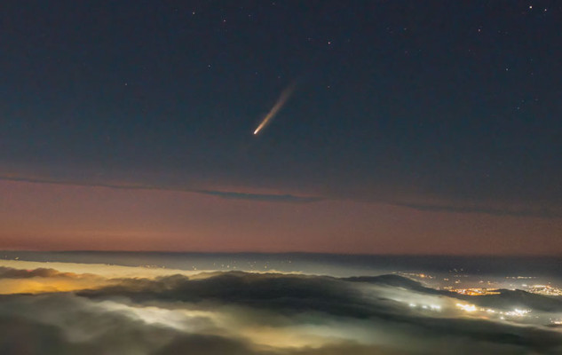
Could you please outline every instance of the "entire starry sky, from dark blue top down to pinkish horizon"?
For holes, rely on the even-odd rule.
[[[0,248],[562,253],[557,1],[8,0],[0,23]]]

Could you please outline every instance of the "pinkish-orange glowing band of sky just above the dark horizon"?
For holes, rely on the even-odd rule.
[[[562,253],[562,240],[553,238],[562,234],[560,218],[424,211],[357,201],[280,203],[5,180],[0,180],[0,195],[0,249]]]

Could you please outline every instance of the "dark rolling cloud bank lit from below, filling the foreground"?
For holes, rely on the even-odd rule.
[[[53,275],[47,269],[0,270],[2,279]],[[0,353],[562,353],[562,333],[539,318],[484,319],[456,308],[459,302],[532,308],[537,317],[562,314],[557,298],[508,290],[461,296],[396,275],[336,279],[214,272],[122,279],[72,293],[1,296]],[[439,304],[439,311],[412,304]]]

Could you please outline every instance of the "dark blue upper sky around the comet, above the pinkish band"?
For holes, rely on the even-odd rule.
[[[561,214],[557,1],[4,1],[0,23],[5,178]]]

